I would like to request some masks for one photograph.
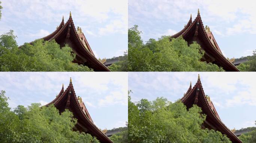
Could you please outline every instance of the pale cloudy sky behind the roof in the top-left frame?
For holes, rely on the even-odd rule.
[[[0,35],[14,30],[18,45],[51,34],[71,11],[97,58],[127,50],[128,0],[1,0]]]

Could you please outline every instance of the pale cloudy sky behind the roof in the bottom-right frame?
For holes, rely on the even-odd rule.
[[[175,102],[195,85],[200,74],[205,95],[209,95],[221,121],[230,129],[255,127],[255,72],[129,72],[131,101],[167,98]]]

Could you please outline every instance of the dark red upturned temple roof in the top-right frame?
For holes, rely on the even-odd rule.
[[[201,48],[205,51],[205,55],[216,61],[216,64],[223,67],[226,71],[239,71],[226,57],[222,54],[210,28],[204,28],[202,19],[198,9],[198,15],[192,22],[190,17],[188,24],[177,34],[172,35],[170,38],[177,38],[182,36],[186,41],[199,40]],[[198,42],[198,41],[197,41]]]

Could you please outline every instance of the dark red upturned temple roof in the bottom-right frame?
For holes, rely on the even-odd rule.
[[[204,93],[199,74],[196,84],[193,86],[193,88],[190,85],[188,91],[184,94],[181,101],[186,105],[187,108],[191,108],[193,104],[201,107],[202,113],[206,115],[206,120],[203,123],[206,128],[217,130],[222,134],[226,134],[232,143],[242,143],[241,140],[238,139],[237,136],[235,136],[235,134],[232,133],[232,131],[229,130],[228,127],[226,127],[226,125],[220,120],[213,103],[210,101],[210,97]]]

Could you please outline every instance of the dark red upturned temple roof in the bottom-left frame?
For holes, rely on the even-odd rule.
[[[112,143],[112,141],[104,134],[92,121],[92,118],[85,107],[85,104],[82,102],[82,98],[76,97],[76,93],[73,88],[72,80],[70,78],[70,83],[68,87],[64,90],[64,86],[58,96],[45,106],[54,104],[54,106],[60,111],[63,112],[65,109],[71,111],[74,115],[74,118],[77,119],[76,126],[82,128],[81,130],[85,133],[89,133],[101,143]],[[107,123],[106,123],[107,124]]]

